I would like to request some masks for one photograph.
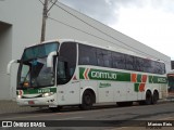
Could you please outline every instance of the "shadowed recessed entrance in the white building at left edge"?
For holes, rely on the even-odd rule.
[[[0,22],[0,96],[10,98],[10,77],[7,76],[7,64],[12,57],[12,26]]]

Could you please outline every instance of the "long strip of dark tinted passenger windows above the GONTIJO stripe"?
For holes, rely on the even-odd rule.
[[[165,74],[165,65],[163,63],[84,44],[78,44],[78,47],[79,65],[96,65],[144,73]]]

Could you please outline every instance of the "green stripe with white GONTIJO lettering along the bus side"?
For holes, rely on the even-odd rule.
[[[147,75],[136,74],[137,78],[135,82],[146,82]],[[142,78],[144,77],[144,78]],[[112,81],[132,81],[130,73],[101,70],[94,68],[79,67],[79,79],[86,80],[112,80]],[[166,83],[166,77],[148,76],[149,83]],[[144,81],[145,80],[145,81]]]

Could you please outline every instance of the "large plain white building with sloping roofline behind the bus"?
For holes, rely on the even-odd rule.
[[[91,43],[126,49],[148,58],[161,60],[171,69],[171,58],[66,5],[57,3],[47,20],[46,40],[76,39]],[[0,100],[15,99],[16,69],[7,75],[11,60],[21,58],[23,49],[39,43],[42,4],[39,0],[0,1]]]

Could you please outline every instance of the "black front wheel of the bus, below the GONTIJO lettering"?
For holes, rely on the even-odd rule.
[[[83,102],[79,105],[80,109],[83,110],[88,110],[91,108],[92,104],[94,104],[94,95],[89,90],[86,90],[83,94]]]

